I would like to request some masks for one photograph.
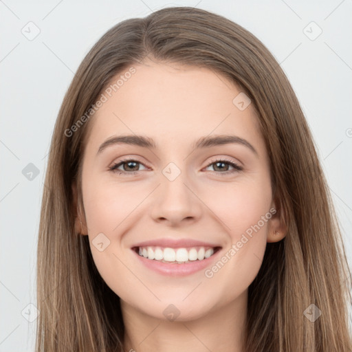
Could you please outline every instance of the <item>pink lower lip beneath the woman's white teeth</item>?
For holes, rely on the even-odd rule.
[[[140,256],[140,254],[132,250],[132,252],[138,257],[142,264],[144,264],[149,269],[165,276],[186,276],[195,272],[199,272],[199,270],[203,270],[208,267],[208,265],[210,265],[212,261],[217,258],[220,251],[221,248],[212,254],[212,256],[207,259],[203,259],[202,261],[189,261],[188,263],[179,264],[163,263],[153,259],[146,259],[144,256]]]

